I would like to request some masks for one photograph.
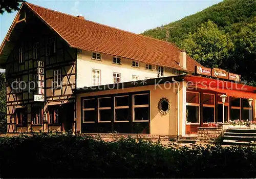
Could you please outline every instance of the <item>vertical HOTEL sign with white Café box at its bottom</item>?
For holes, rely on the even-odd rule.
[[[34,95],[34,101],[45,101],[45,65],[43,61],[37,61],[37,95]]]

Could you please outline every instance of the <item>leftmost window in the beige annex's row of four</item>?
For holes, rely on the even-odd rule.
[[[95,123],[96,121],[96,102],[95,99],[82,100],[83,109],[83,123]]]

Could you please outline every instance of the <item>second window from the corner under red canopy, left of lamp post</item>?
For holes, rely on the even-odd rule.
[[[203,93],[203,122],[215,122],[215,95]]]

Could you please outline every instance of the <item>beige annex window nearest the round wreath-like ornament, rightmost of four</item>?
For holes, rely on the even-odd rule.
[[[148,94],[133,95],[133,121],[150,119],[150,97]]]

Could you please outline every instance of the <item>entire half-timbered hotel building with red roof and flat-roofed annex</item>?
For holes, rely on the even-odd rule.
[[[247,104],[255,88],[239,75],[204,68],[172,43],[30,3],[1,45],[0,65],[8,132],[184,136],[255,117]]]

